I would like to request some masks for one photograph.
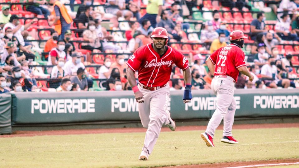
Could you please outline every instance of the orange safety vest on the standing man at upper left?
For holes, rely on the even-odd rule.
[[[61,4],[59,1],[56,1],[53,4],[52,15],[56,17],[55,9],[54,9],[55,5],[57,5],[59,7],[60,13],[61,13],[62,17],[64,18],[64,20],[66,21],[66,23],[71,24],[73,22],[73,19],[71,18],[71,16],[69,16],[69,13],[68,13],[67,9],[65,8],[65,6],[63,4]],[[57,33],[59,35],[61,34],[61,22],[60,22],[60,20],[58,20],[55,23],[55,31],[57,31]]]

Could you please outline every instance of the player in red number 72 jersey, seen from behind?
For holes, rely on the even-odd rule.
[[[236,103],[234,99],[234,84],[237,82],[239,72],[249,77],[249,81],[254,76],[248,71],[244,59],[243,32],[235,30],[230,33],[230,44],[221,47],[206,59],[206,64],[214,78],[212,80],[212,91],[216,95],[216,110],[206,128],[205,133],[201,133],[202,139],[208,147],[214,147],[213,137],[216,128],[223,118],[223,137],[221,142],[238,143],[232,136],[231,130],[234,123]]]

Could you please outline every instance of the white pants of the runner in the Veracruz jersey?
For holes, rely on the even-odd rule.
[[[151,154],[156,144],[161,127],[168,124],[167,106],[169,101],[169,85],[155,90],[149,91],[141,88],[139,90],[144,95],[144,103],[138,104],[138,111],[141,123],[147,128],[145,133],[144,147],[142,150]]]

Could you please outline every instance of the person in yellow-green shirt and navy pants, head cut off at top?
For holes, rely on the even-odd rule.
[[[143,21],[149,20],[153,27],[156,27],[157,22],[161,20],[163,0],[156,0],[146,6],[146,14],[139,20],[139,23],[144,26]],[[153,31],[153,30],[151,30]],[[147,35],[147,33],[145,33]]]

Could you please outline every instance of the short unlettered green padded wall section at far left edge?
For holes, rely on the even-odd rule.
[[[12,132],[12,96],[10,94],[0,94],[0,134]]]

